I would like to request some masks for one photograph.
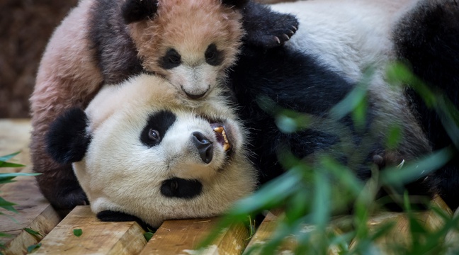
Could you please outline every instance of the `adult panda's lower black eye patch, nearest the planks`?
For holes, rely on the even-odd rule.
[[[161,193],[169,198],[194,198],[203,191],[203,184],[198,180],[171,178],[163,181]]]

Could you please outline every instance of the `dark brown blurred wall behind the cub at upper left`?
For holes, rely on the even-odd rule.
[[[0,0],[0,118],[29,117],[28,98],[47,40],[76,5],[77,0]]]

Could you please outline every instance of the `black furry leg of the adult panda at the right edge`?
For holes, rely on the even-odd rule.
[[[421,1],[395,29],[399,58],[408,62],[414,74],[438,96],[459,106],[459,6],[453,0]],[[459,141],[446,132],[441,115],[424,103],[414,89],[407,89],[417,117],[433,149],[450,145],[456,151]],[[459,120],[459,116],[455,116]],[[458,126],[452,127],[459,134]],[[430,186],[452,209],[459,206],[459,157],[456,156],[429,176]]]

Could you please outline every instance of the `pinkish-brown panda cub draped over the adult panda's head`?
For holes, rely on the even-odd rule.
[[[289,14],[248,0],[81,0],[55,30],[30,97],[30,153],[40,190],[55,208],[85,203],[72,166],[45,151],[52,120],[86,107],[101,84],[154,73],[199,106],[220,86],[239,45],[276,47],[297,28]]]

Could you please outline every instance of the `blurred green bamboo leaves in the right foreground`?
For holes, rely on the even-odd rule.
[[[350,114],[357,127],[364,125],[368,105],[368,86],[365,84],[368,84],[371,75],[373,69],[368,69],[361,83],[331,109],[331,120],[339,120]],[[452,140],[459,141],[458,110],[448,98],[431,91],[429,86],[414,77],[403,64],[392,64],[387,77],[394,86],[411,86],[424,98],[427,106],[434,108],[438,115],[442,116]],[[282,132],[295,132],[332,123],[328,120],[319,120],[312,115],[278,108],[269,98],[261,97],[258,103],[276,118],[276,125]],[[387,134],[387,148],[397,148],[402,135],[402,130],[397,125],[390,128]],[[459,148],[458,145],[455,147]],[[356,148],[348,148],[344,153],[355,151]],[[283,217],[279,217],[273,236],[263,244],[252,246],[249,251],[245,251],[246,254],[276,254],[286,238],[295,242],[295,254],[329,254],[332,247],[338,249],[339,254],[459,254],[459,251],[454,249],[457,247],[448,247],[449,244],[443,242],[448,232],[458,232],[459,217],[450,217],[444,210],[436,208],[426,200],[426,208],[444,221],[438,229],[429,230],[416,218],[417,212],[411,208],[409,197],[403,191],[405,183],[425,176],[446,164],[454,156],[452,149],[441,149],[421,157],[416,162],[392,166],[380,172],[375,168],[371,179],[365,183],[356,178],[350,166],[340,164],[333,156],[324,152],[314,155],[317,157],[314,163],[307,163],[296,159],[289,152],[281,152],[279,159],[287,169],[285,174],[265,183],[253,195],[235,204],[227,215],[222,217],[215,231],[234,222],[247,223],[248,215],[254,217],[266,213],[266,210],[283,208]],[[423,167],[420,168],[419,165]],[[395,222],[387,222],[373,228],[368,225],[370,217],[375,215],[375,212],[380,212],[387,202],[384,198],[377,199],[376,195],[382,187],[389,191],[391,188],[397,191],[391,199],[401,204],[409,222],[409,234],[412,238],[406,240],[408,243],[393,242],[382,246],[378,242],[386,234],[390,234]],[[346,216],[341,216],[341,223],[337,224],[336,215]],[[336,231],[337,225],[339,231]],[[216,236],[215,233],[210,234],[201,246],[210,244]]]

